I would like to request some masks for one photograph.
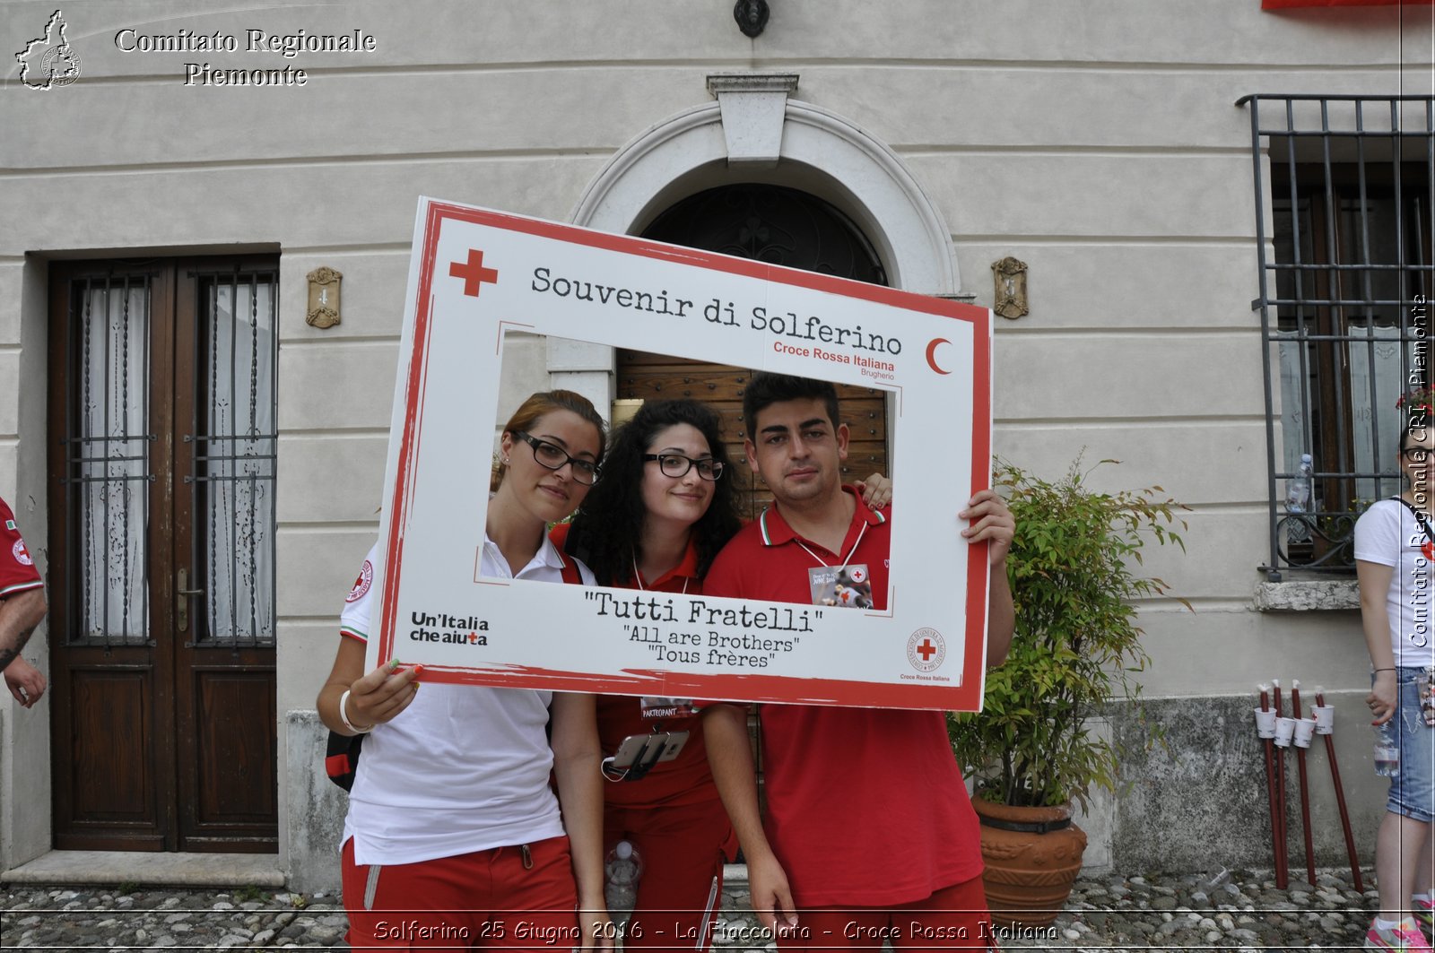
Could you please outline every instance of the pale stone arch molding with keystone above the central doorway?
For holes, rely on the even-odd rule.
[[[794,78],[795,79],[795,78]],[[794,83],[795,85],[795,83]],[[791,185],[852,217],[887,267],[893,287],[960,294],[951,233],[941,212],[897,155],[861,128],[812,103],[772,93],[723,96],[643,132],[608,161],[584,191],[573,222],[601,231],[641,231],[680,198],[733,181]],[[766,100],[766,102],[763,102]],[[766,139],[772,155],[735,155],[748,126],[781,125]],[[725,128],[726,126],[726,128]],[[746,166],[740,177],[733,169]]]

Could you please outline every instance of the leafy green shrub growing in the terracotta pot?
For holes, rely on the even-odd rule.
[[[1149,541],[1185,551],[1178,511],[1187,507],[1162,499],[1161,487],[1096,492],[1081,466],[1078,458],[1049,482],[996,465],[1016,518],[1007,557],[1016,634],[1006,663],[987,673],[983,709],[950,715],[949,733],[982,797],[1000,804],[1085,805],[1091,785],[1116,789],[1122,749],[1093,735],[1089,719],[1116,699],[1141,710],[1137,675],[1151,659],[1132,603],[1167,586],[1134,567]]]

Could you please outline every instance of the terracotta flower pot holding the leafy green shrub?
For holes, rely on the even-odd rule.
[[[1017,808],[973,798],[971,807],[982,821],[982,884],[992,919],[1049,924],[1071,896],[1086,850],[1086,834],[1072,824],[1071,805]]]

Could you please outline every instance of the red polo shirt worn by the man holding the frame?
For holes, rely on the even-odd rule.
[[[857,508],[841,553],[769,507],[718,554],[706,594],[811,604],[809,568],[865,564],[885,609],[891,522],[844,491]],[[943,712],[763,705],[761,720],[765,827],[799,907],[913,903],[982,873]]]

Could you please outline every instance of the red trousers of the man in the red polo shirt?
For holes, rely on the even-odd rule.
[[[779,950],[877,950],[884,943],[898,952],[997,949],[982,877],[895,907],[798,910],[796,931],[778,937]]]

